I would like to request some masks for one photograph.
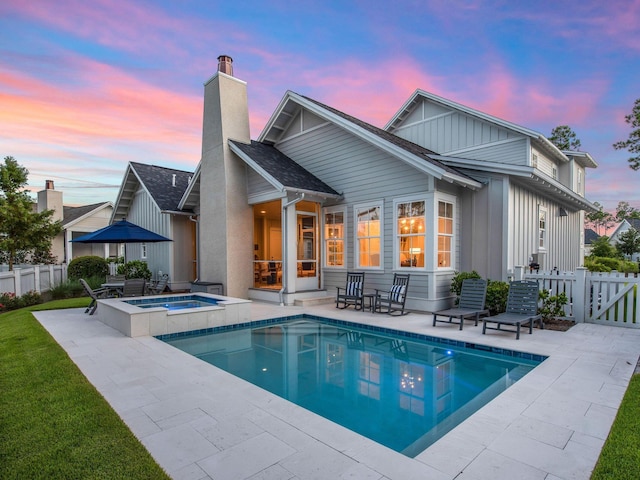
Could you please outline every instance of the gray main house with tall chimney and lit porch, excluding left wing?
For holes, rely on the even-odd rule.
[[[291,305],[335,295],[350,270],[367,289],[405,272],[407,307],[433,311],[451,303],[456,271],[507,280],[518,265],[581,265],[594,167],[423,90],[385,128],[288,91],[253,141],[247,85],[223,55],[176,209],[196,220],[196,277],[230,296]]]

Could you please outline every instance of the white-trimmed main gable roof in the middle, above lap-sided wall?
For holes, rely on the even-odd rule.
[[[298,108],[305,108],[318,117],[349,131],[360,139],[373,144],[390,155],[406,162],[414,168],[439,180],[456,183],[471,189],[482,187],[482,183],[474,180],[444,163],[430,157],[433,152],[420,145],[390,134],[378,127],[359,120],[351,115],[336,110],[311,98],[287,91],[275,112],[267,122],[258,141],[275,143],[288,119]]]

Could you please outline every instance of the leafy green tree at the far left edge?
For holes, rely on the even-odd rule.
[[[53,210],[33,211],[33,202],[23,190],[29,171],[13,157],[0,164],[0,254],[13,270],[16,260],[27,256],[50,257],[51,242],[62,231],[52,220]]]

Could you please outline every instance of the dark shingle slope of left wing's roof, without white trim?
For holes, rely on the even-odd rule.
[[[160,210],[177,210],[193,172],[131,162],[131,168],[144,183]],[[175,186],[173,183],[175,175]]]

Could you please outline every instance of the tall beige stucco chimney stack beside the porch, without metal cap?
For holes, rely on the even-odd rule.
[[[228,140],[250,142],[247,86],[217,73],[206,84],[200,177],[199,272],[228,296],[247,298],[253,282],[253,211],[247,169]]]

